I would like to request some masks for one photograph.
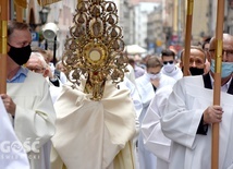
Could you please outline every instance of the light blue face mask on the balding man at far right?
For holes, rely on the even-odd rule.
[[[216,61],[211,59],[210,70],[214,73]],[[224,79],[233,72],[233,62],[222,62],[222,74],[221,77]]]

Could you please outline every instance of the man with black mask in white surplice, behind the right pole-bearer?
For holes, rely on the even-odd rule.
[[[193,70],[197,70],[194,73],[195,75],[201,75],[204,73],[205,60],[206,55],[203,49],[192,46],[189,69],[193,68]],[[162,112],[167,105],[168,97],[172,92],[172,85],[168,85],[156,92],[140,126],[146,148],[157,156],[157,169],[169,169],[171,141],[163,135],[160,119],[163,116]]]

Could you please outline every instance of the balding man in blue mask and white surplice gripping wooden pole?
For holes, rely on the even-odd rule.
[[[211,124],[219,123],[219,169],[233,168],[233,36],[223,34],[221,102],[212,106],[216,38],[210,41],[210,72],[187,76],[173,87],[161,126],[172,141],[170,169],[211,168]]]

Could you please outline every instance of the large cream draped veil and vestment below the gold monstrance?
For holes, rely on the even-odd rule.
[[[54,104],[52,169],[134,169],[131,140],[136,112],[128,88],[116,89],[107,81],[102,99],[94,101],[83,86],[63,85]]]

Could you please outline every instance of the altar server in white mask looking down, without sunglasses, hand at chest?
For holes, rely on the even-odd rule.
[[[160,73],[162,63],[157,57],[149,58],[146,67],[147,72],[143,76],[136,79],[137,89],[143,102],[143,111],[139,116],[139,123],[142,123],[148,106],[155,97],[156,90],[165,85],[173,85],[175,83],[175,80],[172,77]],[[140,132],[138,136],[138,158],[140,169],[156,168],[156,156],[145,148]]]

